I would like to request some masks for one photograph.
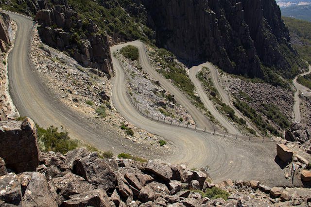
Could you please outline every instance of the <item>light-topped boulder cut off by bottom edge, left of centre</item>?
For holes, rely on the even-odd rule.
[[[103,189],[73,195],[63,203],[64,207],[110,207],[109,198]]]

